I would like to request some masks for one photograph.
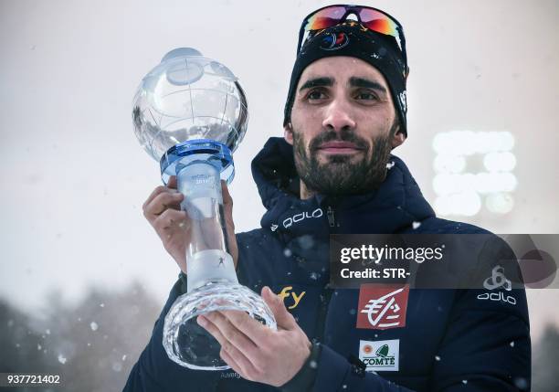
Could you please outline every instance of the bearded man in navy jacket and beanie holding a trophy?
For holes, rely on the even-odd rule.
[[[171,182],[153,192],[144,214],[183,272],[125,391],[530,388],[522,290],[507,292],[514,304],[482,301],[476,290],[398,291],[391,309],[400,319],[380,328],[360,322],[359,303],[380,303],[383,293],[329,285],[331,234],[487,233],[435,217],[406,164],[391,154],[407,137],[407,74],[406,41],[394,17],[331,5],[304,19],[284,137],[271,138],[252,163],[267,208],[261,228],[232,234],[224,186],[239,282],[261,290],[278,331],[244,313],[208,313],[197,322],[221,344],[232,370],[195,371],[167,357],[163,319],[186,290],[180,227],[188,220]]]

